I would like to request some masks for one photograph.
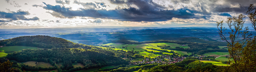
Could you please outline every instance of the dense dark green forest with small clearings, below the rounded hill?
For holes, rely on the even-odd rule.
[[[58,71],[72,72],[81,69],[97,68],[111,65],[128,64],[129,60],[124,60],[122,57],[127,58],[141,58],[138,54],[131,51],[112,50],[111,48],[91,48],[91,49],[76,49],[76,48],[53,48],[47,49],[25,49],[22,51],[8,54],[5,57],[1,57],[1,63],[7,60],[15,60],[17,62],[36,61],[50,63],[53,68],[37,68],[32,66],[21,66],[19,70],[53,70],[57,69],[56,63],[63,62],[63,66],[58,68]],[[72,63],[81,63],[84,67],[76,69],[72,66]],[[17,63],[14,63],[13,66]],[[20,64],[18,64],[20,65]],[[21,64],[22,65],[22,64]]]

